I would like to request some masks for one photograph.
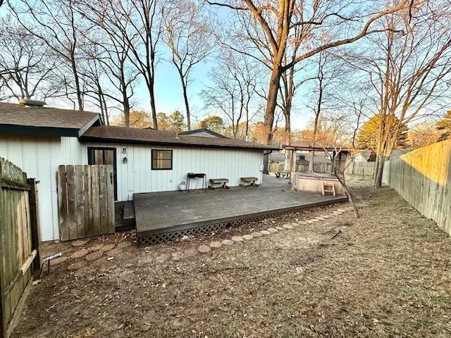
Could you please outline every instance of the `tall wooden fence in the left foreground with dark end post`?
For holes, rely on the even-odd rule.
[[[13,313],[39,270],[37,184],[0,158],[0,337],[7,337]]]

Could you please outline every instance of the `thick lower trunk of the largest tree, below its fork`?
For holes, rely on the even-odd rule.
[[[282,67],[279,63],[273,65],[271,73],[271,81],[269,82],[268,98],[266,103],[264,128],[261,135],[261,143],[271,144],[273,138],[274,112],[276,111],[277,95],[280,88],[280,76],[282,75]]]

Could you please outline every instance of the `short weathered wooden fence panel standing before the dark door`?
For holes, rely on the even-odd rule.
[[[113,165],[59,165],[61,241],[114,232]]]

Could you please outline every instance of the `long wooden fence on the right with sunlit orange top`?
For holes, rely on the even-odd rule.
[[[386,161],[383,182],[451,234],[451,139]]]

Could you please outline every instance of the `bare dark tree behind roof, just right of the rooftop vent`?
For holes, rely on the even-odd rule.
[[[64,76],[61,81],[73,85],[73,92],[70,90],[67,93],[68,99],[75,94],[78,110],[82,111],[84,84],[78,69],[82,21],[75,12],[75,1],[18,0],[8,5],[27,34],[46,44],[54,57],[63,61],[58,66],[59,74]]]

